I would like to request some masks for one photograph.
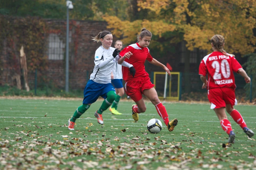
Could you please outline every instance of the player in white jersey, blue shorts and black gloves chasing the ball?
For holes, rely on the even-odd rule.
[[[97,118],[99,124],[103,124],[102,112],[107,110],[112,105],[116,97],[116,92],[111,84],[111,72],[114,63],[117,62],[115,57],[118,56],[120,50],[111,47],[113,36],[109,31],[102,31],[97,36],[93,37],[96,42],[102,45],[96,50],[94,56],[94,70],[84,88],[83,104],[77,108],[72,118],[68,120],[68,129],[75,130],[74,125],[78,119],[99,96],[104,98],[102,105],[97,110],[94,116]],[[135,72],[133,65],[124,62],[123,58],[129,58],[131,52],[127,52],[125,57],[119,59],[123,66],[129,67],[131,72]],[[117,57],[118,58],[118,57]]]

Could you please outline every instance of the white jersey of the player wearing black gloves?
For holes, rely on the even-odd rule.
[[[106,50],[102,46],[100,46],[95,51],[95,56],[94,56],[95,66],[94,66],[93,73],[90,76],[91,80],[100,84],[111,83],[111,72],[115,64],[115,58],[112,56],[114,50],[115,48],[113,47],[110,47],[109,50]],[[106,62],[106,60],[110,62],[109,63],[107,62],[108,64],[100,68],[99,64],[102,62]]]

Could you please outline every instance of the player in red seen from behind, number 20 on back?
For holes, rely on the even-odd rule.
[[[234,55],[228,54],[223,50],[224,37],[222,35],[214,35],[211,39],[211,44],[213,52],[205,56],[199,66],[199,75],[203,82],[202,89],[207,86],[211,109],[214,109],[222,129],[229,135],[229,143],[234,143],[235,134],[232,131],[230,121],[227,119],[225,107],[248,137],[252,137],[254,133],[247,128],[243,117],[233,107],[237,104],[233,71],[243,76],[246,83],[250,83],[251,80]],[[208,80],[206,79],[206,74],[208,74]]]

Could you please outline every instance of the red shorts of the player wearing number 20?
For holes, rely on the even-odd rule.
[[[235,89],[229,87],[213,88],[208,90],[208,99],[212,104],[211,109],[226,107],[226,104],[230,104],[231,107],[237,105]]]

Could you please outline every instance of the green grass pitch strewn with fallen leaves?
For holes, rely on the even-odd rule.
[[[151,103],[131,117],[133,102],[120,102],[123,115],[103,113],[94,103],[75,131],[67,121],[82,101],[0,99],[0,169],[256,169],[256,144],[230,116],[235,144],[223,148],[228,135],[208,104],[165,103],[169,119],[178,125],[159,134],[147,131],[147,121],[160,117]],[[256,106],[236,106],[255,132]],[[162,120],[161,120],[162,121]],[[163,121],[162,121],[163,123]]]

